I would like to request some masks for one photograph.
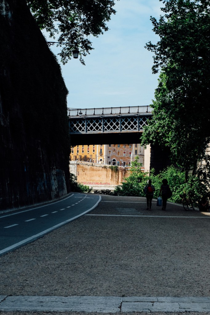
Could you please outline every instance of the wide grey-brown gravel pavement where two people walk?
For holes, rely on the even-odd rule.
[[[103,195],[89,215],[1,256],[0,294],[209,297],[209,213],[145,208],[145,198]]]

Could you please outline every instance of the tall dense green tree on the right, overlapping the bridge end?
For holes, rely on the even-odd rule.
[[[153,73],[161,72],[142,144],[170,147],[187,180],[210,141],[210,1],[162,2],[165,14],[159,21],[151,17],[160,39],[146,44],[155,54]]]

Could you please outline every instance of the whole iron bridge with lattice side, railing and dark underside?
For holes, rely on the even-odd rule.
[[[68,108],[68,117],[69,132],[74,144],[85,144],[85,138],[87,143],[92,141],[97,143],[98,138],[100,143],[110,143],[110,140],[116,137],[118,141],[122,138],[124,140],[122,143],[127,139],[129,141],[126,143],[135,143],[131,139],[134,140],[134,136],[139,140],[147,120],[152,117],[152,108],[150,106]]]

